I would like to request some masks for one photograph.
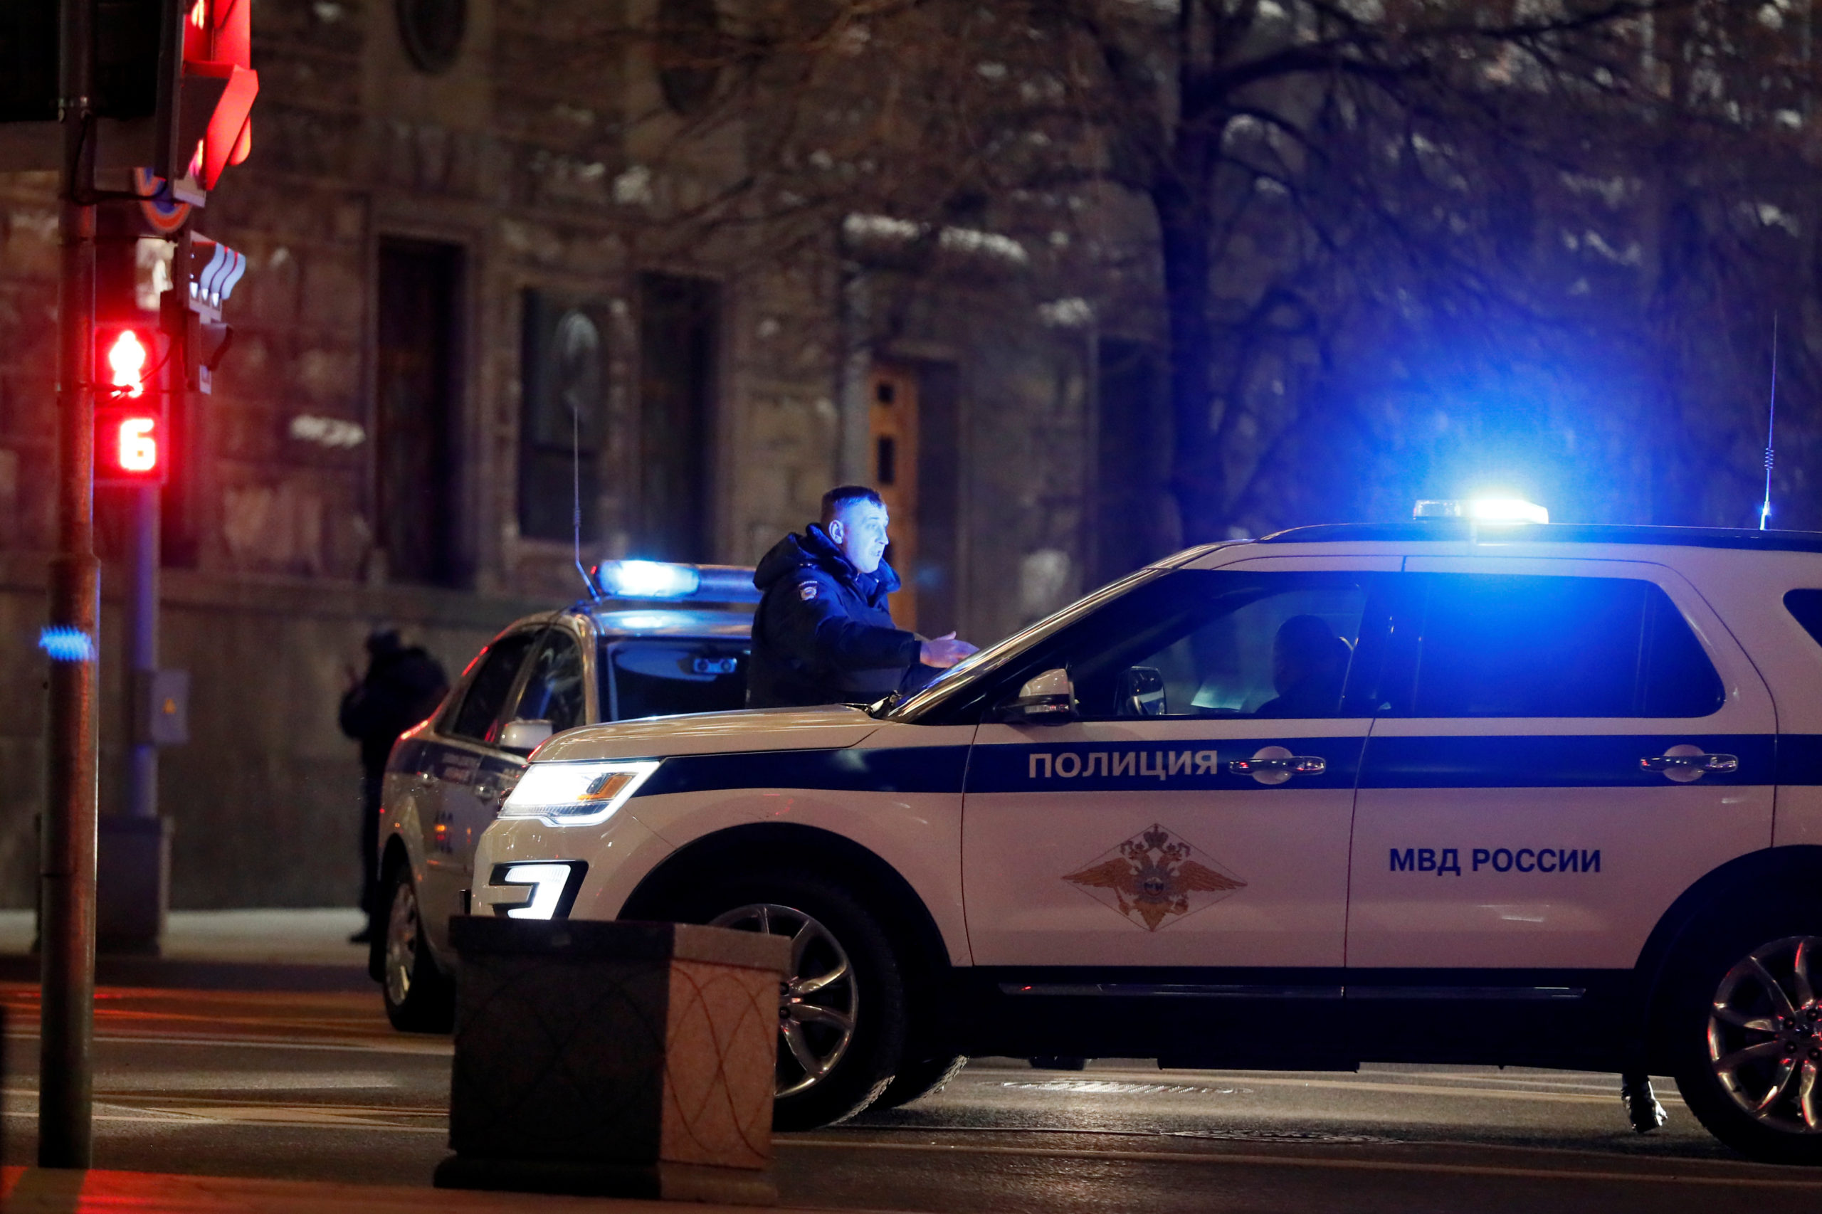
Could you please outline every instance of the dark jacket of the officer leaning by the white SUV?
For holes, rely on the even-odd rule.
[[[893,627],[885,561],[864,574],[811,523],[752,572],[762,592],[747,664],[749,707],[871,704],[896,691],[918,658],[915,633]]]

